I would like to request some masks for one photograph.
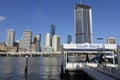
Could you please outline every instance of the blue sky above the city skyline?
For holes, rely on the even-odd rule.
[[[7,29],[16,31],[15,40],[20,40],[25,29],[41,34],[44,44],[45,34],[50,25],[55,25],[55,33],[61,44],[72,35],[74,42],[74,4],[80,0],[0,0],[0,42],[6,41]],[[120,44],[120,0],[81,0],[92,8],[93,42],[97,38],[114,37]]]

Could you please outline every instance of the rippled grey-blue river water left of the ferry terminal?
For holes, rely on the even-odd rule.
[[[61,58],[29,57],[25,78],[25,57],[0,57],[0,80],[61,80]]]

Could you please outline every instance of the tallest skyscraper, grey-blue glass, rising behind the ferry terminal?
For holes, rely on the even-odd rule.
[[[76,43],[92,43],[92,9],[84,4],[74,6]]]

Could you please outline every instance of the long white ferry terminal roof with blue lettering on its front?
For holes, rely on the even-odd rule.
[[[63,49],[68,52],[111,52],[117,50],[116,44],[63,44]]]

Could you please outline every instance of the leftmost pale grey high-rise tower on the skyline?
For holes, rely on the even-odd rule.
[[[15,40],[15,31],[13,29],[7,30],[7,39],[6,39],[6,45],[8,47],[14,46],[14,40]]]

